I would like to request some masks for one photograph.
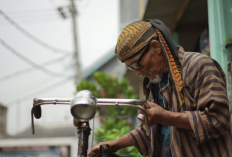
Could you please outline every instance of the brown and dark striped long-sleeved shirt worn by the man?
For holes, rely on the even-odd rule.
[[[187,114],[192,131],[171,128],[172,156],[232,157],[232,127],[224,72],[216,61],[201,53],[185,53],[179,47],[178,57],[184,86],[184,104],[179,112]],[[170,87],[170,84],[164,87],[161,96],[173,112],[178,112],[177,99]],[[150,140],[137,140],[146,139],[141,127],[128,133],[144,156],[159,156],[154,153],[160,152],[159,146],[154,146],[155,128],[151,127]]]

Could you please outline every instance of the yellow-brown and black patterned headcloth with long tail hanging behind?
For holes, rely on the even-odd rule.
[[[181,64],[178,59],[178,51],[173,43],[169,29],[157,19],[136,21],[127,25],[118,37],[115,48],[116,57],[124,62],[136,56],[140,50],[153,38],[157,38],[161,44],[162,51],[170,74],[172,88],[177,96],[178,108],[183,104],[183,80],[181,77]],[[150,89],[147,88],[148,78],[144,79],[144,95],[148,97]]]

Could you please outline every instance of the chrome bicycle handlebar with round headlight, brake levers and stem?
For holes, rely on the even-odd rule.
[[[108,99],[108,98],[95,98],[95,96],[88,90],[80,91],[73,99],[70,98],[35,98],[33,107],[31,109],[31,126],[32,133],[35,133],[34,118],[41,118],[42,110],[41,105],[70,105],[71,114],[74,117],[74,126],[78,129],[79,142],[78,142],[78,157],[87,157],[88,150],[88,137],[91,128],[89,127],[89,120],[91,120],[96,113],[97,106],[127,106],[135,107],[144,115],[144,122],[146,127],[146,134],[149,135],[147,124],[147,116],[145,111],[138,107],[138,105],[145,104],[146,101],[139,99]]]

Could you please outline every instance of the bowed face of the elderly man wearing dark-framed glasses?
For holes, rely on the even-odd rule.
[[[146,51],[146,48],[144,51]],[[137,64],[141,65],[141,68],[133,68],[136,75],[142,75],[150,80],[155,80],[158,75],[167,72],[165,57],[161,50],[161,45],[157,40],[151,42],[149,48],[147,48],[147,52],[144,51],[125,61],[128,67],[133,67],[133,65]]]

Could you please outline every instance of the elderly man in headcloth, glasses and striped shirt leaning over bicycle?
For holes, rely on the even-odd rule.
[[[215,60],[175,47],[170,31],[156,19],[126,26],[115,55],[144,76],[150,136],[142,123],[92,152],[107,143],[112,151],[134,145],[149,157],[232,156],[225,74]]]

